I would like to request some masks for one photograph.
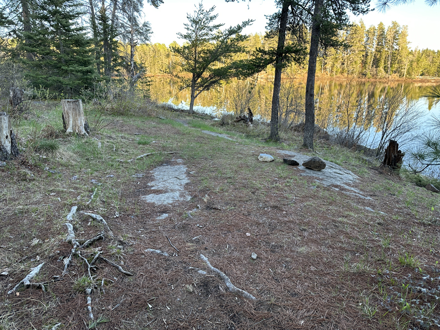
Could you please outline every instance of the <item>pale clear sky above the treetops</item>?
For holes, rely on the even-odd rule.
[[[193,14],[198,5],[198,0],[163,0],[158,9],[146,4],[144,7],[145,20],[149,21],[153,30],[152,42],[166,44],[173,41],[182,44],[183,41],[177,38],[177,32],[184,32],[183,24],[187,22],[186,14]],[[373,5],[375,4],[373,0]],[[216,6],[215,13],[219,17],[216,23],[224,23],[223,28],[237,25],[247,19],[255,22],[246,27],[243,31],[246,34],[261,32],[264,33],[266,18],[277,11],[274,0],[252,0],[240,2],[225,2],[224,0],[203,0],[205,9]],[[415,0],[410,4],[394,6],[385,13],[374,10],[363,16],[351,15],[351,20],[359,22],[362,19],[368,28],[383,22],[385,26],[396,21],[402,25],[408,25],[408,41],[411,49],[429,48],[440,50],[440,3],[429,7],[423,0]]]

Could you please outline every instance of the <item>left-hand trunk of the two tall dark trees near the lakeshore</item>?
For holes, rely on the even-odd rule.
[[[278,29],[278,45],[277,54],[275,58],[275,78],[273,81],[273,95],[272,95],[272,112],[270,115],[270,135],[269,140],[279,141],[280,136],[278,134],[279,118],[280,118],[280,90],[281,90],[281,72],[283,70],[284,60],[284,44],[286,41],[286,26],[287,26],[287,14],[289,10],[289,1],[283,2],[280,17],[280,27]]]

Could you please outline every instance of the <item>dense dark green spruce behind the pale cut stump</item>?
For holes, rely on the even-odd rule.
[[[42,0],[30,17],[32,30],[22,32],[20,48],[31,54],[22,61],[35,87],[49,88],[67,97],[91,88],[96,73],[91,42],[80,26],[76,0]]]

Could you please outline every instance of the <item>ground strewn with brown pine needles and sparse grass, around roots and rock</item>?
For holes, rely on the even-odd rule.
[[[70,162],[24,157],[0,168],[0,329],[438,329],[438,195],[358,162],[341,165],[371,199],[344,194],[283,164],[286,146],[159,120],[117,121],[94,138],[102,151],[78,147]],[[159,151],[178,153],[127,162]],[[260,153],[276,160],[259,162]],[[151,171],[177,159],[190,200],[142,200],[163,193],[151,189]],[[63,273],[72,206],[78,241],[104,232],[82,256],[101,252],[132,276],[99,258],[88,276],[78,255]],[[102,216],[114,236],[82,212]],[[230,293],[200,254],[256,300]],[[46,292],[8,294],[43,262],[31,282]]]

